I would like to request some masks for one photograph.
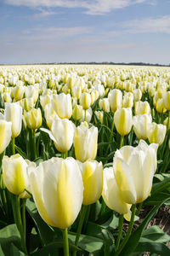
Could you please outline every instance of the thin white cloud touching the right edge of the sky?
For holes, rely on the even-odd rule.
[[[130,20],[122,23],[124,32],[128,33],[167,33],[170,34],[170,16]]]

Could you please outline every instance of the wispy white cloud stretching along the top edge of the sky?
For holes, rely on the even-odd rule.
[[[81,8],[83,12],[88,15],[105,15],[114,9],[122,9],[139,3],[152,4],[153,1],[155,2],[156,0],[3,0],[3,2],[7,4],[31,8]]]

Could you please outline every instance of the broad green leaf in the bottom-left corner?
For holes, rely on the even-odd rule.
[[[5,256],[14,255],[10,254],[11,244],[14,244],[17,248],[21,248],[20,233],[15,224],[10,224],[0,230],[0,245]]]

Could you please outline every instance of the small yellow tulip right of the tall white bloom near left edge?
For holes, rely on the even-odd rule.
[[[42,125],[42,112],[40,108],[32,108],[30,111],[24,111],[26,125],[32,130],[38,129]]]

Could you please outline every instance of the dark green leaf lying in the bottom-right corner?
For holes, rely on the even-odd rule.
[[[139,245],[136,247],[135,251],[140,253],[157,253],[161,256],[170,255],[170,249],[165,244],[160,242],[139,242]]]

